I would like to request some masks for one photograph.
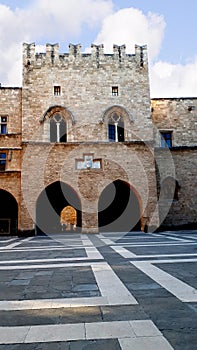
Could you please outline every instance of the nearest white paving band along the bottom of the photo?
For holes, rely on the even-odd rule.
[[[122,350],[173,350],[151,320],[0,327],[0,344],[66,342],[118,339]],[[155,344],[159,347],[155,347]],[[129,347],[133,344],[133,347]],[[153,347],[150,347],[150,344]],[[161,346],[161,347],[160,347]]]

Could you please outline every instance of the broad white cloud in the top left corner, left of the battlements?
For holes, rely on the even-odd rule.
[[[60,42],[97,27],[113,11],[112,0],[36,0],[12,11],[0,4],[0,82],[21,85],[22,42]]]

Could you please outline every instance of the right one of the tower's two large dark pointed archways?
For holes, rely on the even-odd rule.
[[[128,183],[116,180],[101,193],[98,205],[100,232],[140,231],[140,206]]]

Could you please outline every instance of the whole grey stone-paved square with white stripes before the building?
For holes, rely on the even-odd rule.
[[[197,349],[197,231],[1,237],[4,349]]]

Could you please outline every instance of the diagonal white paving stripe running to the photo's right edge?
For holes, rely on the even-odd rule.
[[[132,265],[160,284],[182,302],[197,302],[197,290],[148,261],[130,261]],[[158,263],[158,261],[157,261]]]

